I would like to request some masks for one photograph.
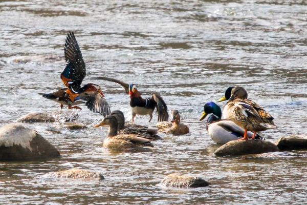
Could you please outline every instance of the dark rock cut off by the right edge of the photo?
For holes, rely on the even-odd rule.
[[[279,150],[302,150],[307,149],[307,135],[293,135],[281,137],[275,142]]]

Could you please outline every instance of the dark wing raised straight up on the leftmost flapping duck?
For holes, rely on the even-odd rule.
[[[86,69],[74,32],[67,34],[64,56],[67,64],[61,73],[61,79],[66,87],[70,86],[74,90],[78,90],[85,77]]]

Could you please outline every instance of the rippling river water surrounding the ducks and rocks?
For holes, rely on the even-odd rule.
[[[275,117],[278,129],[261,133],[267,140],[307,134],[304,1],[0,1],[0,26],[1,126],[30,112],[59,110],[37,93],[63,87],[64,40],[74,31],[87,68],[84,83],[99,84],[112,110],[130,120],[129,97],[119,85],[91,78],[136,83],[145,97],[159,92],[191,131],[161,134],[157,150],[111,152],[101,146],[107,128],[93,128],[102,117],[84,106],[75,112],[88,129],[26,124],[61,157],[0,162],[1,204],[307,203],[306,151],[216,157],[218,146],[199,121],[207,101],[240,85]],[[157,116],[148,119],[138,116],[136,123],[155,126]],[[101,172],[105,180],[43,177],[70,168]],[[159,185],[175,172],[212,185]]]

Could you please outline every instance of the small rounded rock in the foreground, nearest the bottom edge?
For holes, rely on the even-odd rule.
[[[165,187],[173,188],[197,188],[197,187],[207,187],[210,185],[209,182],[202,178],[179,175],[179,174],[169,174],[162,181],[161,184]]]

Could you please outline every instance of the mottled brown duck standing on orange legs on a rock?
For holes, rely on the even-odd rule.
[[[245,130],[242,139],[248,139],[247,131],[254,133],[251,138],[254,139],[256,132],[276,129],[277,126],[273,122],[274,117],[247,97],[247,91],[243,87],[234,87],[223,109],[224,117],[231,119]]]

